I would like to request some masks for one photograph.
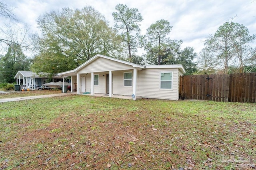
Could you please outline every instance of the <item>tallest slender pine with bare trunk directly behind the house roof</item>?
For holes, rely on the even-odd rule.
[[[114,27],[121,31],[123,42],[128,47],[128,57],[132,61],[132,52],[136,52],[138,48],[138,40],[140,39],[140,25],[142,16],[137,8],[128,8],[127,5],[118,4],[117,12],[113,12],[112,16],[116,22]],[[135,35],[134,35],[135,34]]]

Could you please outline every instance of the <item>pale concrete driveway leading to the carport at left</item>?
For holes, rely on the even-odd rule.
[[[20,101],[20,100],[39,99],[39,98],[50,98],[50,97],[56,97],[56,96],[68,96],[68,95],[74,95],[74,94],[77,94],[77,93],[60,93],[60,94],[46,94],[46,95],[39,95],[39,96],[26,96],[26,97],[18,97],[18,98],[5,98],[5,99],[0,99],[0,103],[14,102],[14,101]]]

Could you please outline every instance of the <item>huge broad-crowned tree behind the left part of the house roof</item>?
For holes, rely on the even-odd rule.
[[[37,22],[42,35],[34,39],[39,51],[32,65],[36,73],[56,74],[74,69],[96,54],[110,57],[122,54],[120,36],[91,6],[52,11],[40,16]]]

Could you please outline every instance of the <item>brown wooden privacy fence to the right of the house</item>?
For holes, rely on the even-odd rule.
[[[180,99],[256,102],[256,73],[180,76]]]

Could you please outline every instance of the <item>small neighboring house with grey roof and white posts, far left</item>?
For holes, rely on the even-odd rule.
[[[16,84],[30,89],[41,87],[48,80],[47,77],[41,77],[32,71],[18,71],[14,78],[16,78]],[[62,81],[62,78],[58,76],[52,78],[52,82],[58,81]]]

